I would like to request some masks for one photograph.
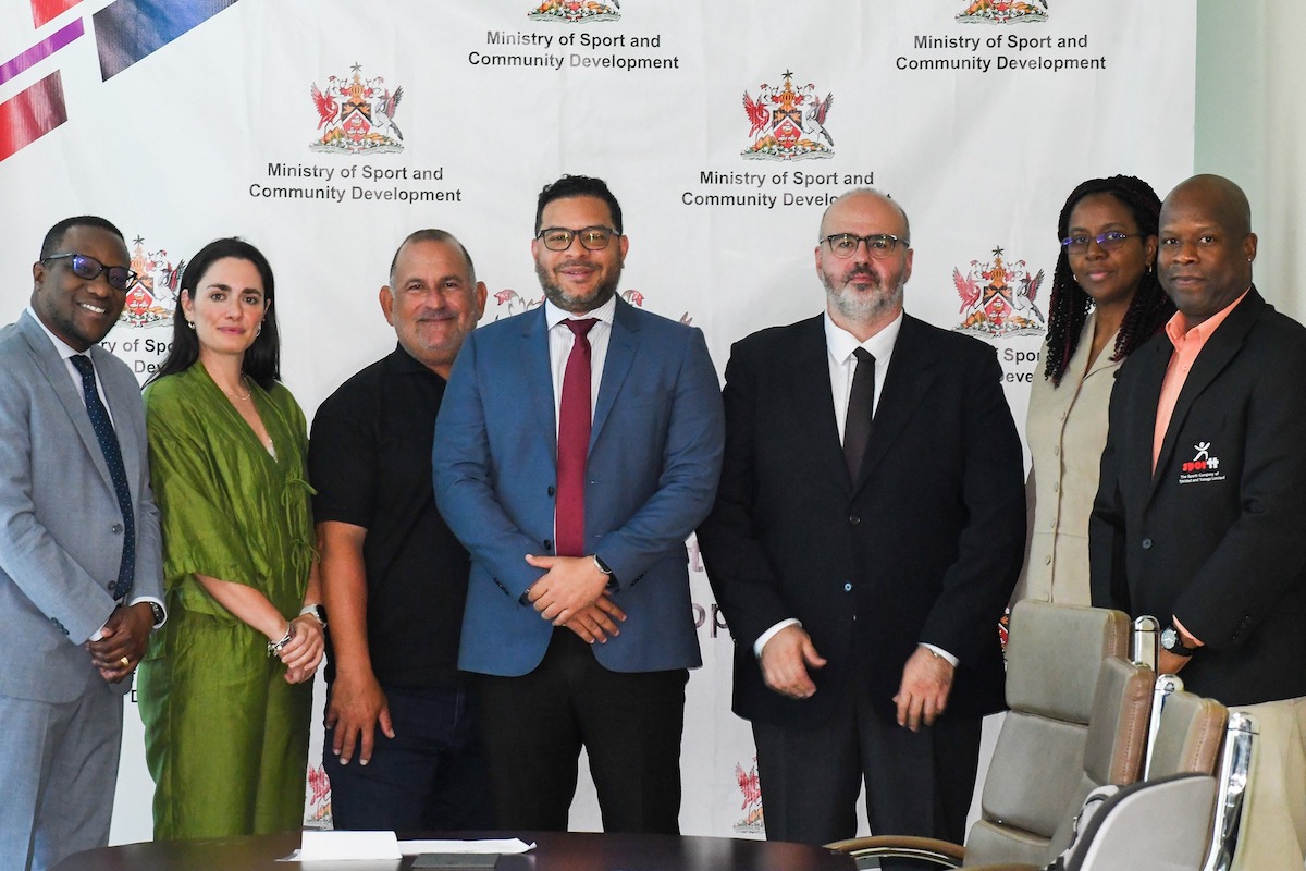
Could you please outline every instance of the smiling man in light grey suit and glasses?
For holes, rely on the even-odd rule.
[[[0,329],[0,871],[108,842],[123,695],[165,619],[145,415],[98,347],[136,281],[103,218],[55,225]]]

